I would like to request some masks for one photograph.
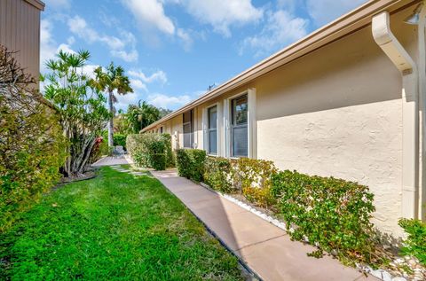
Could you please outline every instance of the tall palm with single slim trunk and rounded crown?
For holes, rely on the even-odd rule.
[[[129,77],[124,74],[122,66],[114,66],[111,62],[106,66],[106,71],[99,66],[95,69],[95,79],[92,80],[93,86],[99,90],[106,91],[108,94],[108,105],[111,118],[108,122],[108,145],[114,145],[114,103],[117,98],[114,96],[114,91],[119,95],[126,95],[132,93],[133,89],[130,87]]]

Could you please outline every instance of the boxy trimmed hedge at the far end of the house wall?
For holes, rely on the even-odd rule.
[[[173,166],[169,134],[134,134],[127,136],[126,146],[138,167],[163,170]]]

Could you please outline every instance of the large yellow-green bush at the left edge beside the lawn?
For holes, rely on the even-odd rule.
[[[51,105],[0,46],[0,232],[60,178],[66,142]]]

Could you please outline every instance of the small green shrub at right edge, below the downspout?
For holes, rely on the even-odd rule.
[[[400,219],[398,224],[408,234],[401,253],[413,255],[426,265],[426,223],[419,220]]]

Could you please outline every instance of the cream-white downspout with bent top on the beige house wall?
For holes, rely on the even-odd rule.
[[[419,110],[418,74],[414,60],[390,31],[388,12],[373,17],[375,43],[402,74],[402,216],[418,217]]]

